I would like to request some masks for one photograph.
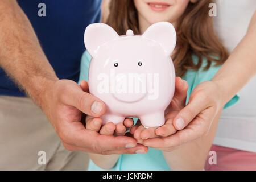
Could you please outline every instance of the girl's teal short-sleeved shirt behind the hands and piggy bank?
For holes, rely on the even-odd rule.
[[[193,61],[195,63],[198,61],[197,56],[193,55]],[[81,72],[79,82],[81,80],[88,81],[88,72],[90,60],[92,57],[89,55],[87,51],[85,51],[84,55],[82,55],[81,60]],[[187,102],[192,90],[199,85],[203,81],[212,80],[213,76],[217,73],[218,69],[221,66],[211,66],[207,71],[203,71],[204,67],[207,65],[207,60],[203,60],[203,65],[198,71],[188,70],[186,75],[183,77],[184,80],[188,82],[188,95]],[[238,95],[234,96],[232,100],[230,100],[224,108],[229,107],[238,101]],[[96,166],[90,160],[88,170],[103,170],[100,167]],[[111,169],[113,171],[119,170],[170,170],[166,160],[163,157],[162,151],[156,150],[154,148],[149,148],[146,154],[122,154],[117,164]]]

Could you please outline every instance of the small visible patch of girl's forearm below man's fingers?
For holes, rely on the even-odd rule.
[[[101,155],[89,153],[89,157],[93,161],[93,163],[105,170],[113,168],[117,163],[119,156],[120,155],[117,154]]]

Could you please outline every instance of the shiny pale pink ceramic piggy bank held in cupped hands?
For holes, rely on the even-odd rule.
[[[164,125],[175,90],[174,26],[159,22],[143,35],[127,30],[119,36],[112,27],[95,23],[86,28],[84,42],[92,56],[89,92],[106,104],[103,124],[138,117],[144,127]]]

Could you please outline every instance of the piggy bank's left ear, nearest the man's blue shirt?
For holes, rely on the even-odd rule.
[[[104,23],[93,23],[86,27],[84,32],[84,43],[87,51],[92,57],[97,54],[98,49],[109,42],[117,38],[119,35],[114,29]]]

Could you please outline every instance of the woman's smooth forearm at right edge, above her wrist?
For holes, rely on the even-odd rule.
[[[223,104],[228,102],[256,73],[256,13],[247,34],[216,73],[213,81],[222,93]]]

